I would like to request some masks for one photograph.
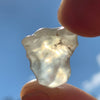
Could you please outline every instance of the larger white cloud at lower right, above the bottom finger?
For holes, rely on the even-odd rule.
[[[94,74],[90,81],[84,81],[82,87],[87,92],[91,92],[93,89],[100,87],[100,72]]]

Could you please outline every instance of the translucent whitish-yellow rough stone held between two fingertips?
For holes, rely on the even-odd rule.
[[[57,87],[70,77],[70,56],[78,46],[77,35],[63,27],[41,28],[23,39],[30,68],[39,84]]]

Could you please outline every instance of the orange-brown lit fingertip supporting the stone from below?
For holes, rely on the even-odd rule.
[[[48,88],[39,85],[38,82],[26,83],[21,90],[21,100],[97,100],[84,91],[63,84],[57,88]]]

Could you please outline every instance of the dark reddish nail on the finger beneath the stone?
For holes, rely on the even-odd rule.
[[[50,100],[50,98],[46,93],[36,91],[35,93],[25,95],[22,100]]]

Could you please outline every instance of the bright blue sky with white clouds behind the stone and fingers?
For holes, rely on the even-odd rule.
[[[0,100],[20,100],[34,75],[22,39],[41,27],[59,27],[61,0],[0,0]],[[78,37],[68,81],[100,100],[100,37]]]

